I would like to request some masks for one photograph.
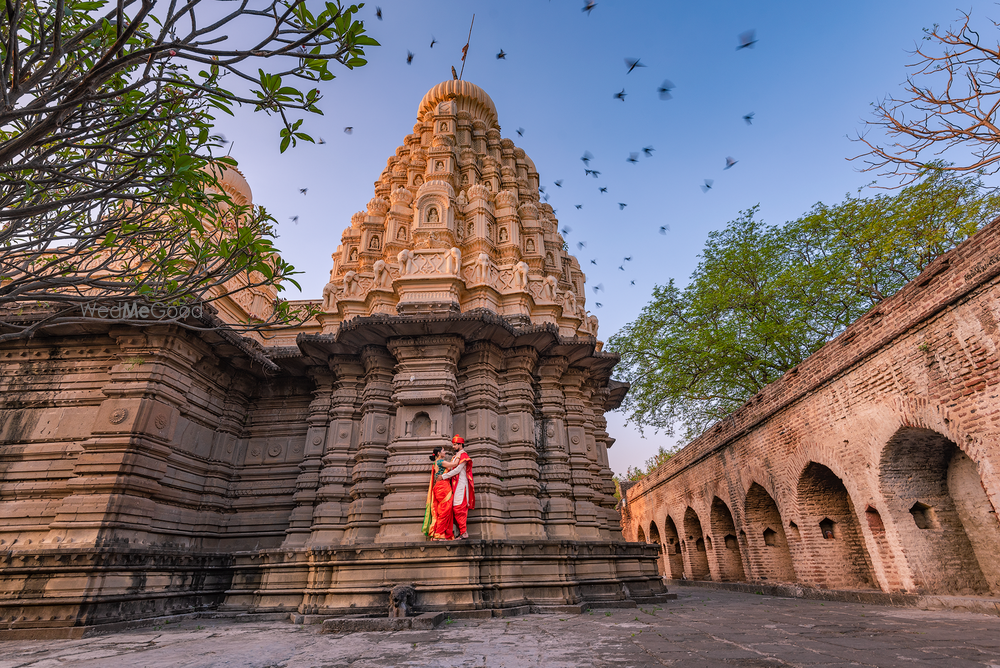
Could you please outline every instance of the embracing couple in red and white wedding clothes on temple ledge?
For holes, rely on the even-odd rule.
[[[476,507],[476,494],[472,484],[472,458],[465,451],[465,439],[455,434],[451,439],[455,456],[445,460],[444,448],[434,448],[431,461],[431,483],[427,489],[424,508],[424,535],[431,540],[454,540],[454,524],[458,524],[459,538],[468,538],[466,519]]]

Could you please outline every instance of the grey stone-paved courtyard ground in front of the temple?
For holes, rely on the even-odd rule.
[[[705,590],[639,610],[454,621],[433,631],[317,630],[196,619],[82,640],[10,641],[0,668],[1000,668],[1000,617]]]

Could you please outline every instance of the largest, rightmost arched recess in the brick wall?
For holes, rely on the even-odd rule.
[[[903,427],[882,451],[879,470],[917,586],[1000,594],[1000,525],[975,462],[935,431]]]

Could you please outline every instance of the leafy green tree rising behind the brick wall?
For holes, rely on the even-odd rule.
[[[739,408],[935,257],[1000,215],[977,176],[942,170],[767,226],[756,207],[709,234],[687,286],[657,286],[608,341],[640,429],[692,438]]]

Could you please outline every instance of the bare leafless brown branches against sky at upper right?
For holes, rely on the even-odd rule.
[[[930,166],[953,172],[994,174],[1000,169],[1000,22],[983,38],[962,13],[957,27],[924,29],[914,51],[904,94],[877,103],[869,124],[889,142],[864,135],[869,170],[908,184]],[[938,162],[944,158],[950,164]]]

